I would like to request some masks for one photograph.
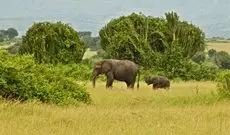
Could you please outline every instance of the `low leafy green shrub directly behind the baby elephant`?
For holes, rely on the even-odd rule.
[[[182,80],[214,80],[219,68],[211,62],[201,64],[184,58],[179,50],[158,55],[154,67],[144,71],[144,74],[163,75],[169,79]],[[176,64],[175,64],[176,63]],[[146,69],[145,69],[146,70]]]

